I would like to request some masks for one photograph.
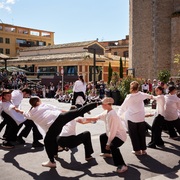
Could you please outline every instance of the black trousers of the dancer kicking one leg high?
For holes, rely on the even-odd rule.
[[[57,136],[61,133],[62,128],[69,121],[97,107],[97,103],[87,104],[79,109],[73,109],[65,113],[61,113],[54,123],[50,126],[44,139],[44,145],[47,155],[51,161],[54,161],[54,155],[57,154],[58,144]]]

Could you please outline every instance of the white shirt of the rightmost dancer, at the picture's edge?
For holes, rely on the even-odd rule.
[[[180,111],[180,98],[177,95],[165,95],[165,120],[173,121],[178,119]]]

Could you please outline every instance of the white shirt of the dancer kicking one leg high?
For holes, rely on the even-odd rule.
[[[62,111],[56,106],[42,103],[39,106],[32,108],[28,113],[24,113],[24,115],[27,119],[33,120],[45,132],[47,132],[61,112]]]

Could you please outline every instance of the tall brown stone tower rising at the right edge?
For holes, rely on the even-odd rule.
[[[180,0],[129,0],[129,67],[135,76],[157,78],[160,70],[177,75],[180,54]]]

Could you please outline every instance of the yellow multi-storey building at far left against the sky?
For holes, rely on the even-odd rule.
[[[19,56],[27,47],[54,44],[54,32],[0,23],[0,53]]]

